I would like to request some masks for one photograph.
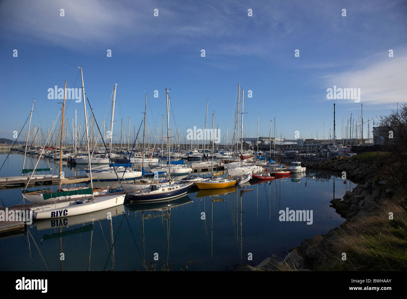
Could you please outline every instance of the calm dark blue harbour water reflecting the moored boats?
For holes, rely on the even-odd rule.
[[[5,157],[0,155],[1,163]],[[21,175],[23,158],[10,155],[0,177]],[[25,168],[33,168],[35,162],[29,157]],[[50,173],[57,174],[59,162],[42,158],[37,168],[53,168]],[[66,164],[63,171],[65,176],[84,174],[83,167]],[[194,188],[164,203],[126,204],[77,218],[34,222],[25,233],[0,239],[0,270],[145,271],[143,260],[146,266],[156,262],[158,271],[161,262],[173,271],[187,270],[186,264],[188,271],[256,266],[273,254],[284,257],[305,238],[326,234],[343,223],[329,201],[353,187],[339,177],[307,172],[304,177],[247,183],[242,188]],[[0,198],[6,206],[22,203],[21,189],[0,190]],[[287,207],[312,210],[312,225],[279,221],[279,210]],[[106,219],[107,212],[112,212],[112,220]]]

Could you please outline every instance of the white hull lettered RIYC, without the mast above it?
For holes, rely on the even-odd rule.
[[[92,213],[100,210],[123,205],[125,194],[107,195],[94,198],[93,201],[64,201],[31,208],[34,219],[60,218]]]

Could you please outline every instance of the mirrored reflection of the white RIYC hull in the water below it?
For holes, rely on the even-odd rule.
[[[105,210],[100,210],[93,213],[56,218],[56,219],[38,219],[35,220],[35,227],[37,230],[50,229],[56,227],[65,227],[68,225],[77,225],[82,223],[87,223],[91,221],[97,221],[107,218],[107,213],[111,213],[111,217],[121,215],[125,213],[125,206],[118,205],[116,207],[110,207]]]

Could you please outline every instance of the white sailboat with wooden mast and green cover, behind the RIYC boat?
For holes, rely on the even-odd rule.
[[[65,89],[66,90],[66,81]],[[62,103],[62,117],[61,117],[61,132],[63,132],[63,113],[65,109],[65,93],[63,95]],[[42,203],[50,201],[58,201],[64,199],[82,199],[89,197],[91,195],[101,195],[107,192],[107,188],[88,188],[88,187],[70,187],[70,188],[61,188],[62,181],[66,182],[66,179],[63,179],[62,174],[62,133],[61,133],[61,146],[60,146],[60,155],[59,155],[59,188],[57,191],[53,190],[37,190],[33,192],[26,192],[23,190],[22,196],[24,199],[30,203]],[[41,157],[41,156],[40,156]],[[39,158],[38,158],[39,159]],[[80,183],[83,179],[69,180],[68,183]],[[28,185],[28,183],[27,183]],[[27,188],[27,186],[26,186]]]

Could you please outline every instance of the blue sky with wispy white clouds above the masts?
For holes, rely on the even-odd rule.
[[[295,131],[317,137],[318,131],[321,138],[323,126],[327,137],[335,103],[339,138],[342,118],[345,125],[350,113],[357,118],[361,103],[366,121],[407,102],[406,25],[407,3],[401,0],[5,0],[0,3],[0,137],[12,139],[33,98],[32,126],[51,125],[61,100],[48,99],[48,88],[63,87],[65,80],[68,87],[80,87],[78,65],[99,124],[118,84],[114,135],[119,138],[122,118],[126,131],[129,116],[131,131],[140,124],[144,90],[147,123],[151,131],[159,126],[166,114],[164,89],[171,88],[170,127],[179,125],[185,133],[187,127],[203,126],[208,100],[207,126],[215,113],[223,139],[226,129],[234,129],[239,83],[245,89],[246,137],[256,137],[258,114],[260,136],[269,135],[270,120],[276,118],[283,137],[294,138]],[[296,49],[300,57],[294,56]],[[328,100],[326,89],[334,85],[361,88],[361,103]],[[70,101],[71,127],[75,108],[77,122],[84,121],[83,103]]]

